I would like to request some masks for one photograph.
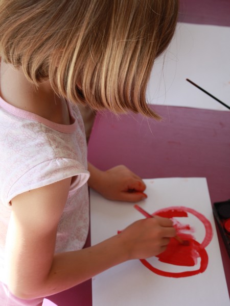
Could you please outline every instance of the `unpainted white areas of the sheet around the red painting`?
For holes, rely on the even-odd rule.
[[[227,285],[212,213],[208,186],[204,178],[144,180],[148,198],[139,206],[150,214],[172,206],[188,207],[204,215],[212,224],[213,238],[206,247],[209,264],[203,273],[181,278],[165,277],[148,270],[139,260],[125,262],[93,278],[93,306],[229,306]],[[133,203],[109,201],[90,190],[91,244],[97,244],[144,218]],[[203,224],[192,215],[196,241],[202,241]],[[188,222],[188,221],[187,221]],[[157,268],[181,272],[197,267],[178,267],[149,260]],[[199,265],[199,263],[197,264]]]

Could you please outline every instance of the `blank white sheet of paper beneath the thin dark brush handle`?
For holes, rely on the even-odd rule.
[[[230,106],[229,38],[229,27],[178,23],[168,50],[154,63],[149,103],[228,111],[186,79]]]

